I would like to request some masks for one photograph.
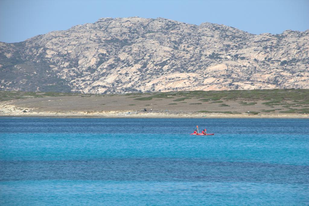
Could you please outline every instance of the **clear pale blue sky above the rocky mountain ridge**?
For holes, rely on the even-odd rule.
[[[0,0],[0,41],[19,42],[103,17],[131,16],[278,34],[309,29],[309,0]]]

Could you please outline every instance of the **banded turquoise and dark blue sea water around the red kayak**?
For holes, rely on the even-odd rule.
[[[0,204],[308,205],[308,134],[305,119],[0,118]]]

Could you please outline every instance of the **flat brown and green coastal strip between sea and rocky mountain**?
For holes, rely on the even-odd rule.
[[[299,89],[181,91],[116,95],[0,91],[0,100],[0,116],[309,117],[309,90]]]

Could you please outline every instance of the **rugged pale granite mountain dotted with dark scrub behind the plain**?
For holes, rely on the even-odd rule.
[[[213,23],[103,18],[0,43],[0,90],[122,93],[309,89],[309,30],[253,35]]]

